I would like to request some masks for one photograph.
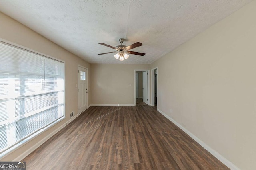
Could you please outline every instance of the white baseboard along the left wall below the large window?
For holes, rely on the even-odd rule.
[[[77,115],[74,115],[74,117],[72,117],[71,119],[69,119],[66,123],[64,123],[63,125],[61,125],[60,127],[58,127],[57,129],[55,129],[54,131],[52,131],[49,135],[47,135],[46,137],[44,137],[41,141],[39,141],[38,143],[36,143],[35,145],[33,145],[32,147],[30,147],[30,149],[26,150],[24,153],[20,154],[19,156],[17,156],[16,158],[14,158],[12,161],[21,161],[24,158],[26,158],[26,156],[28,156],[30,153],[32,153],[34,150],[36,150],[38,147],[40,147],[43,143],[45,143],[48,139],[50,139],[53,135],[55,135],[58,131],[60,131],[61,129],[63,129],[66,125],[68,125],[70,122],[72,122],[74,119],[76,119],[76,117],[78,117]]]

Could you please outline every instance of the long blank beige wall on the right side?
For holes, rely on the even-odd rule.
[[[256,169],[256,1],[151,64],[158,108],[243,170]]]

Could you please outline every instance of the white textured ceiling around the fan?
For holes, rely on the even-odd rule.
[[[89,63],[150,64],[251,1],[0,0],[0,11]],[[119,38],[146,55],[97,55]]]

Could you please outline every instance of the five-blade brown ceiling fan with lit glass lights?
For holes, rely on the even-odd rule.
[[[140,55],[140,56],[144,56],[145,53],[139,53],[139,52],[134,52],[134,51],[129,51],[130,49],[134,49],[136,47],[140,47],[142,46],[142,43],[137,42],[134,43],[132,45],[126,46],[126,45],[122,45],[122,43],[124,42],[124,38],[120,38],[119,42],[121,43],[121,45],[118,45],[116,47],[112,47],[111,45],[107,45],[105,43],[99,43],[101,45],[105,45],[107,47],[110,47],[112,49],[115,49],[116,51],[118,51],[118,53],[116,53],[116,51],[113,52],[108,52],[108,53],[116,53],[114,55],[114,57],[116,59],[119,59],[120,61],[123,61],[124,59],[128,59],[129,55],[128,54],[135,54],[135,55]],[[100,53],[98,55],[102,55],[102,54],[108,54],[108,53]]]

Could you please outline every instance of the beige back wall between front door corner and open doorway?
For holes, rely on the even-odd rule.
[[[91,64],[92,104],[134,104],[136,69],[150,64]]]

